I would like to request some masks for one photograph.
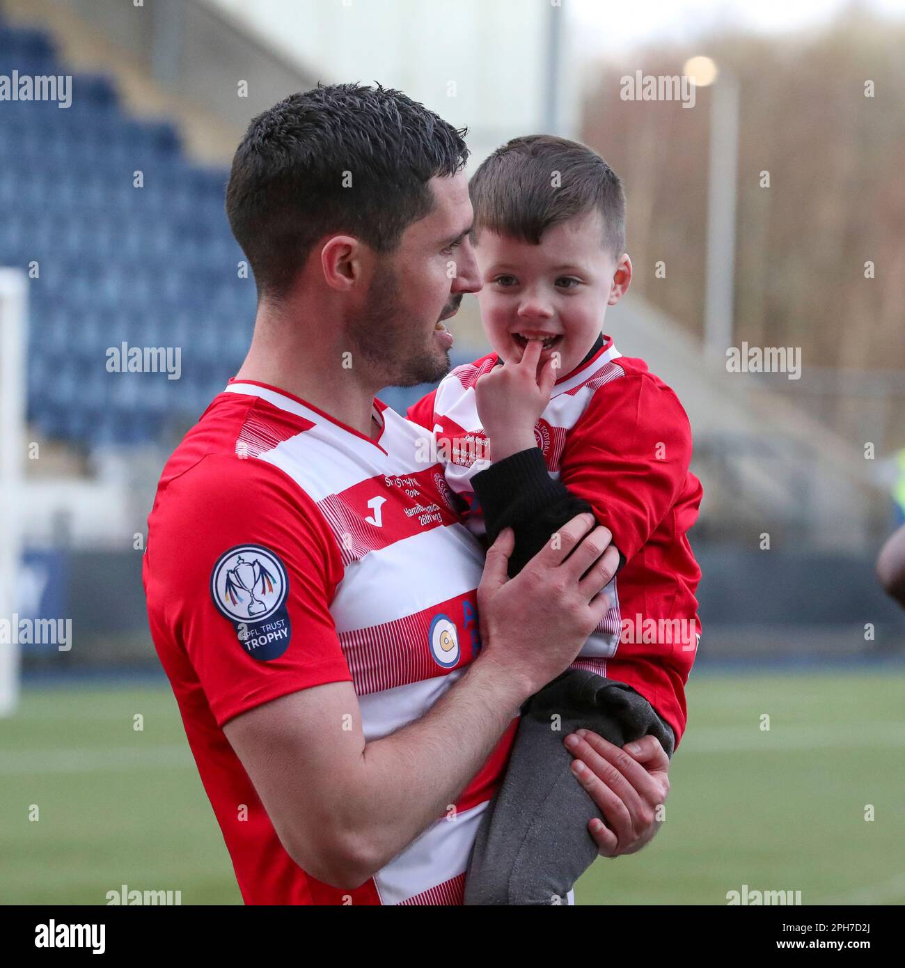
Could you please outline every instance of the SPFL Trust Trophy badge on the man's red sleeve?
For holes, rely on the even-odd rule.
[[[262,662],[279,658],[289,646],[288,591],[286,565],[262,545],[230,548],[211,572],[214,604],[232,622],[242,648]]]

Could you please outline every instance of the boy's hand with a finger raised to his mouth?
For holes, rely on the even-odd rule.
[[[534,424],[550,403],[557,381],[553,356],[538,375],[541,351],[540,340],[528,340],[521,360],[494,367],[475,384],[478,416],[496,462],[537,446]]]

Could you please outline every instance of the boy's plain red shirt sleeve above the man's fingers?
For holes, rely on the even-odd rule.
[[[629,375],[594,393],[566,438],[560,480],[631,560],[679,499],[691,449],[676,394],[656,378]]]

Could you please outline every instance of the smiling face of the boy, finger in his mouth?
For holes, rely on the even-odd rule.
[[[481,229],[475,248],[483,288],[481,319],[502,360],[520,360],[526,338],[547,341],[538,371],[558,353],[557,379],[588,355],[603,328],[607,306],[631,282],[628,256],[603,246],[598,213],[576,216],[547,229],[540,244]]]

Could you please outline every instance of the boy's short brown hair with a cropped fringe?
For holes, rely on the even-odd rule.
[[[597,211],[603,245],[625,251],[625,195],[618,174],[577,141],[552,135],[514,137],[486,158],[468,182],[474,233],[540,243],[544,231]]]

